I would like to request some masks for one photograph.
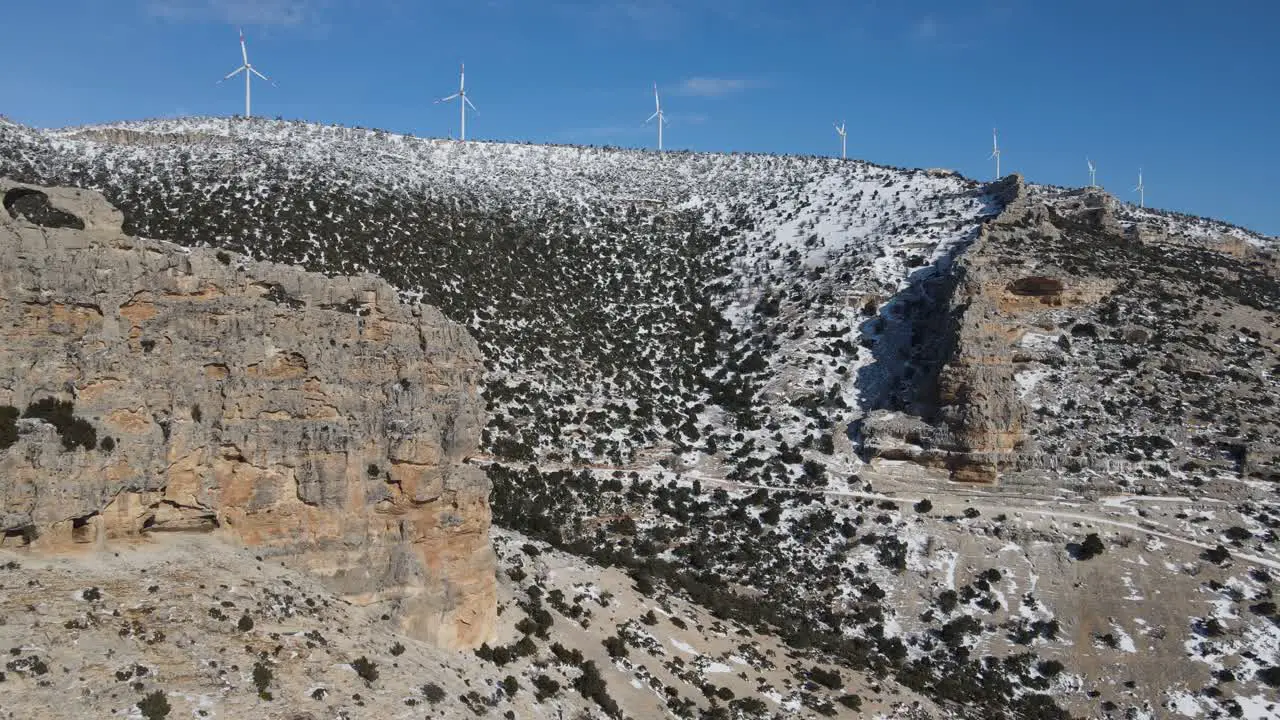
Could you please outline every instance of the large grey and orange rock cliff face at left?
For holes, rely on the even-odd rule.
[[[0,195],[5,546],[216,532],[417,637],[488,639],[489,486],[465,464],[483,366],[463,328],[372,275],[127,237],[97,193]]]

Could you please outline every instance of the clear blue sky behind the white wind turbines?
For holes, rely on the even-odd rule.
[[[1148,202],[1280,234],[1272,0],[47,0],[4,12],[0,113],[40,127],[243,109],[475,138],[838,154]]]

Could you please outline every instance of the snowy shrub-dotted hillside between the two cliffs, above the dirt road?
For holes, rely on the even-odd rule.
[[[485,348],[495,455],[600,464],[829,447],[899,379],[864,372],[877,313],[998,211],[860,161],[260,119],[9,126],[0,174],[101,188],[138,234],[381,274]]]

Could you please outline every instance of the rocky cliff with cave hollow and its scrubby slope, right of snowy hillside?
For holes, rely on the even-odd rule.
[[[1272,251],[1170,234],[1101,191],[993,192],[1004,211],[936,299],[950,327],[919,351],[936,382],[868,419],[872,455],[979,483],[1280,477]]]

